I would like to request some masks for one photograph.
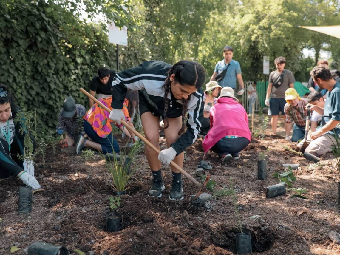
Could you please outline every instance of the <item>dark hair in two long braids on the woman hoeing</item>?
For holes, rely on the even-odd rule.
[[[167,72],[167,78],[165,79],[163,89],[164,89],[164,110],[163,110],[163,122],[164,129],[168,128],[169,122],[166,117],[166,113],[168,111],[169,98],[168,94],[170,92],[170,76],[175,74],[174,81],[180,83],[181,85],[191,85],[196,88],[201,88],[204,80],[205,80],[205,70],[204,67],[201,66],[197,62],[193,61],[179,61],[174,64],[169,71]],[[185,115],[188,111],[188,102],[190,100],[190,96],[187,99],[183,99],[182,104],[182,128],[178,132],[178,135],[184,133],[185,130]],[[165,121],[167,123],[165,123]]]

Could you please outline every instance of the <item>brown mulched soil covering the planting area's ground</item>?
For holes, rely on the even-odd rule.
[[[313,164],[283,148],[297,149],[284,137],[270,136],[269,130],[266,134],[264,139],[254,138],[240,159],[226,165],[213,152],[204,156],[202,139],[198,139],[186,150],[184,169],[194,176],[200,160],[209,160],[215,190],[229,187],[232,179],[242,230],[251,235],[254,253],[340,254],[339,244],[328,237],[329,231],[340,232],[336,171],[328,165],[333,155]],[[165,148],[164,139],[160,138],[160,144]],[[268,156],[268,178],[264,181],[257,180],[259,152]],[[74,249],[86,254],[236,254],[239,229],[232,197],[194,207],[189,198],[197,188],[184,179],[184,200],[170,201],[169,167],[163,170],[162,198],[148,197],[152,176],[143,153],[136,162],[144,162],[121,197],[117,211],[123,229],[115,233],[105,231],[108,197],[114,192],[99,154],[86,161],[74,154],[74,148],[58,148],[56,155],[50,148],[44,166],[41,161],[40,157],[35,172],[45,191],[34,194],[30,214],[18,214],[22,182],[17,178],[0,180],[0,254],[10,254],[12,246],[20,248],[15,254],[27,254],[35,241],[64,245],[71,254],[77,254]],[[297,178],[293,185],[308,189],[304,194],[308,199],[289,199],[291,191],[271,199],[262,197],[263,187],[278,183],[273,173],[283,172],[282,163],[300,164],[293,170]],[[305,212],[297,216],[299,210]],[[260,217],[249,218],[254,215]]]

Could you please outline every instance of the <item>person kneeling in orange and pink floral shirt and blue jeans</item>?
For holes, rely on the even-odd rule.
[[[99,101],[112,109],[110,106],[112,97],[102,98]],[[121,112],[125,121],[129,122],[133,127],[130,122],[131,119],[128,108],[124,106]],[[84,120],[85,133],[91,140],[84,138],[84,136],[80,136],[76,145],[77,154],[79,154],[86,146],[96,149],[103,154],[112,153],[113,151],[115,151],[115,153],[120,153],[119,144],[112,134],[111,125],[113,124],[113,121],[109,119],[108,112],[95,103],[85,114]],[[126,131],[126,134],[131,138],[130,133],[122,124],[118,125],[116,123],[116,126],[118,126],[122,132]]]

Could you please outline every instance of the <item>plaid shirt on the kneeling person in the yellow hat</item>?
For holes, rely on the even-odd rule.
[[[286,123],[295,122],[298,126],[306,126],[306,110],[307,101],[302,98],[299,100],[299,103],[293,107],[292,105],[286,103],[285,104],[285,114],[286,114]]]

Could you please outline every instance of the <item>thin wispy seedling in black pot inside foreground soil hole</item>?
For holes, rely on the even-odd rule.
[[[242,232],[242,223],[240,219],[240,214],[237,208],[237,198],[235,195],[234,185],[232,179],[230,179],[230,188],[229,188],[232,198],[233,198],[233,206],[234,212],[237,217],[238,227],[240,233],[236,234],[236,251],[237,254],[245,254],[252,252],[252,240],[251,236],[247,233]]]

